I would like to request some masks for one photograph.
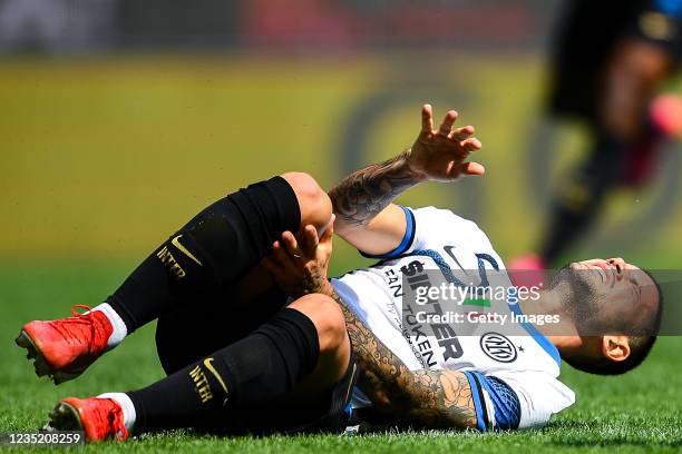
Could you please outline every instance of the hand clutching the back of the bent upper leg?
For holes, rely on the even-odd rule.
[[[300,241],[291,231],[284,231],[282,239],[272,245],[272,253],[262,260],[262,265],[290,296],[327,294],[333,234],[334,215],[321,237],[311,225],[302,230]]]

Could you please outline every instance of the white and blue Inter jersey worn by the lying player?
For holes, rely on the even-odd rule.
[[[540,425],[572,405],[574,393],[557,379],[558,352],[533,325],[505,334],[481,325],[462,335],[458,328],[438,328],[403,314],[409,309],[402,300],[403,278],[426,270],[440,270],[448,280],[474,270],[481,280],[495,275],[512,286],[501,259],[475,223],[433,207],[403,210],[408,227],[398,248],[377,257],[380,261],[373,266],[332,279],[355,316],[411,371],[462,372],[480,431]],[[497,313],[519,313],[518,305],[506,300],[491,305]],[[352,404],[371,405],[359,388]]]

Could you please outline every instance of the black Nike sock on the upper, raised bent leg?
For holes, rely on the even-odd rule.
[[[282,177],[228,195],[201,211],[145,259],[107,298],[128,334],[183,300],[214,300],[221,286],[255,266],[301,214]]]

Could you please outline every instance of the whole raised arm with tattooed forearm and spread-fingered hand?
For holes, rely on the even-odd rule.
[[[457,112],[449,110],[433,129],[431,106],[421,111],[421,131],[411,148],[381,164],[345,177],[329,191],[337,214],[337,233],[373,255],[393,250],[402,240],[405,213],[392,201],[421,181],[452,181],[462,175],[483,175],[478,162],[466,162],[480,141],[474,127],[452,128]]]

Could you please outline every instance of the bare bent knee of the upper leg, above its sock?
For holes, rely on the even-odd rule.
[[[293,188],[301,209],[301,226],[313,225],[318,231],[329,223],[332,215],[332,204],[313,177],[301,171],[282,175]]]

